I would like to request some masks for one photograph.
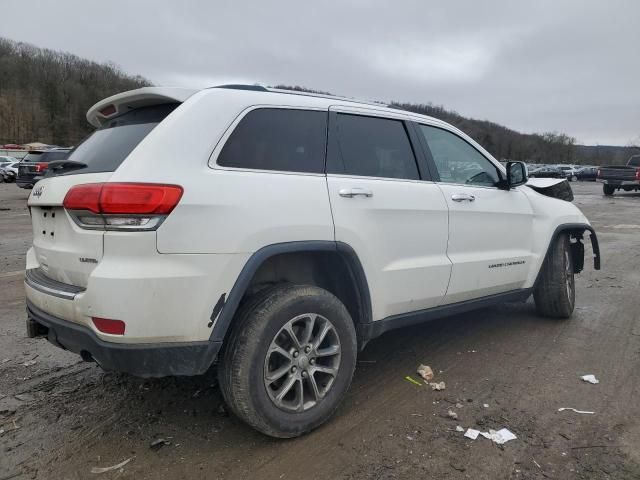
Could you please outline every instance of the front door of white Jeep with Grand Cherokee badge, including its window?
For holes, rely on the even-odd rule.
[[[453,131],[419,125],[449,207],[453,263],[445,303],[522,288],[532,262],[533,210],[517,187],[498,188],[498,166]]]

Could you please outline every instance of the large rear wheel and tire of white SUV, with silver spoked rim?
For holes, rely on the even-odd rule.
[[[241,309],[219,366],[231,410],[256,430],[291,438],[324,423],[356,365],[353,321],[334,295],[279,285]]]

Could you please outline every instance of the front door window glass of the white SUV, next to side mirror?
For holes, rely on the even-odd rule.
[[[447,130],[420,125],[441,182],[494,187],[498,169],[462,138]]]

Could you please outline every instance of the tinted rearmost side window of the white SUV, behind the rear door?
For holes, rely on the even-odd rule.
[[[260,108],[249,112],[225,143],[223,167],[322,173],[327,112]]]

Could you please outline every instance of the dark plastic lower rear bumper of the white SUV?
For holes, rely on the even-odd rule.
[[[93,359],[105,370],[138,377],[200,375],[215,361],[222,342],[122,344],[106,342],[89,328],[54,317],[27,300],[27,331]]]

